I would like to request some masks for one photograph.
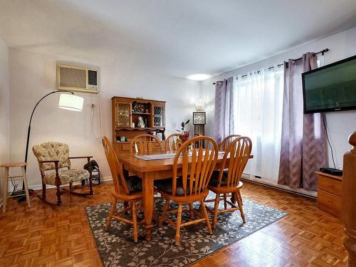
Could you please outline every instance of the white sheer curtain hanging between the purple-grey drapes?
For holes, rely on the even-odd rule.
[[[245,173],[278,181],[281,152],[283,68],[253,71],[235,79],[234,132],[251,138],[253,159]]]

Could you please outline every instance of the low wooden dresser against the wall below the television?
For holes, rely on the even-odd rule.
[[[342,177],[324,172],[316,172],[316,174],[318,174],[319,209],[340,218]]]

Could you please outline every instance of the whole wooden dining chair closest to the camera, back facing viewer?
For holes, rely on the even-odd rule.
[[[203,146],[200,146],[198,149],[195,148],[194,144],[196,142],[205,142],[206,149]],[[158,180],[156,182],[158,192],[165,199],[159,225],[163,221],[167,221],[174,226],[176,229],[176,245],[179,245],[180,229],[182,226],[205,221],[209,234],[212,234],[204,199],[209,194],[207,186],[214,171],[218,154],[219,148],[214,139],[211,137],[193,137],[184,142],[179,147],[179,150],[177,150],[173,161],[172,179]],[[179,169],[182,170],[182,174],[178,177]],[[169,209],[170,201],[177,203],[178,209]],[[199,211],[202,211],[202,214],[193,209],[192,206],[194,202],[198,201],[200,202]],[[182,207],[183,205],[188,205],[188,207]],[[189,209],[189,216],[192,220],[182,223],[182,211],[187,209]],[[167,214],[175,212],[177,212],[176,222],[167,216]],[[193,219],[193,214],[199,219]]]

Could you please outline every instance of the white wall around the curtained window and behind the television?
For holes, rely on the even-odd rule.
[[[236,68],[227,73],[223,73],[209,80],[201,82],[201,95],[206,102],[207,125],[206,134],[212,135],[214,130],[214,98],[215,89],[213,83],[216,80],[228,78],[234,75],[243,75],[251,70],[259,68],[268,68],[275,63],[283,63],[288,58],[299,58],[306,52],[318,52],[324,48],[329,48],[330,51],[325,53],[324,64],[340,61],[343,58],[354,56],[356,54],[356,28],[351,28],[347,31],[342,31],[333,36],[307,43],[303,46],[298,46],[290,51],[283,52],[271,58],[266,58],[262,61]],[[350,145],[347,142],[348,136],[356,130],[356,111],[329,112],[326,115],[330,141],[333,145],[336,157],[336,167],[342,167],[342,157],[347,150],[350,150]],[[329,151],[329,165],[333,166]]]

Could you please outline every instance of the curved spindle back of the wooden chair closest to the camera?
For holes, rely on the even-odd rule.
[[[204,143],[199,148],[195,144]],[[189,149],[189,147],[191,149]],[[177,179],[182,179],[184,196],[196,196],[204,192],[209,184],[219,155],[219,147],[211,137],[198,136],[184,142],[174,157],[172,194],[177,191]],[[182,178],[178,178],[178,164],[182,161]],[[178,163],[179,162],[179,163]]]

